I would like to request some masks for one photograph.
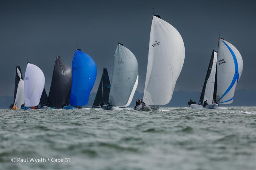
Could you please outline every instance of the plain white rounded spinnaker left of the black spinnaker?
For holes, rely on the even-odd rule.
[[[24,79],[25,106],[33,107],[39,104],[44,90],[44,73],[34,64],[28,63]]]

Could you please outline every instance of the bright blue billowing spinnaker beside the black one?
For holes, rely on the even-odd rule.
[[[72,61],[70,105],[84,106],[88,103],[96,75],[97,67],[92,58],[88,54],[76,49]]]

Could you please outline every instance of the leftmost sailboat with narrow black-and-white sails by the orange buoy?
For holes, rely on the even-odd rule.
[[[13,109],[20,109],[21,105],[25,103],[25,99],[24,99],[24,80],[22,78],[22,73],[21,73],[20,66],[16,66],[13,103],[14,103]]]

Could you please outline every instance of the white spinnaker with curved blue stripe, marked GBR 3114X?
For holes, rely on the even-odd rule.
[[[220,39],[217,59],[216,102],[233,102],[236,84],[243,71],[243,59],[239,51],[228,41]]]

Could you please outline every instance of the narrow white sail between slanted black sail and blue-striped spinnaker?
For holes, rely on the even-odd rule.
[[[204,101],[207,100],[208,104],[213,104],[213,92],[214,92],[214,82],[215,82],[215,74],[216,74],[216,62],[217,62],[217,53],[214,51],[213,54],[213,63],[210,76],[206,82],[205,92],[204,92]]]

